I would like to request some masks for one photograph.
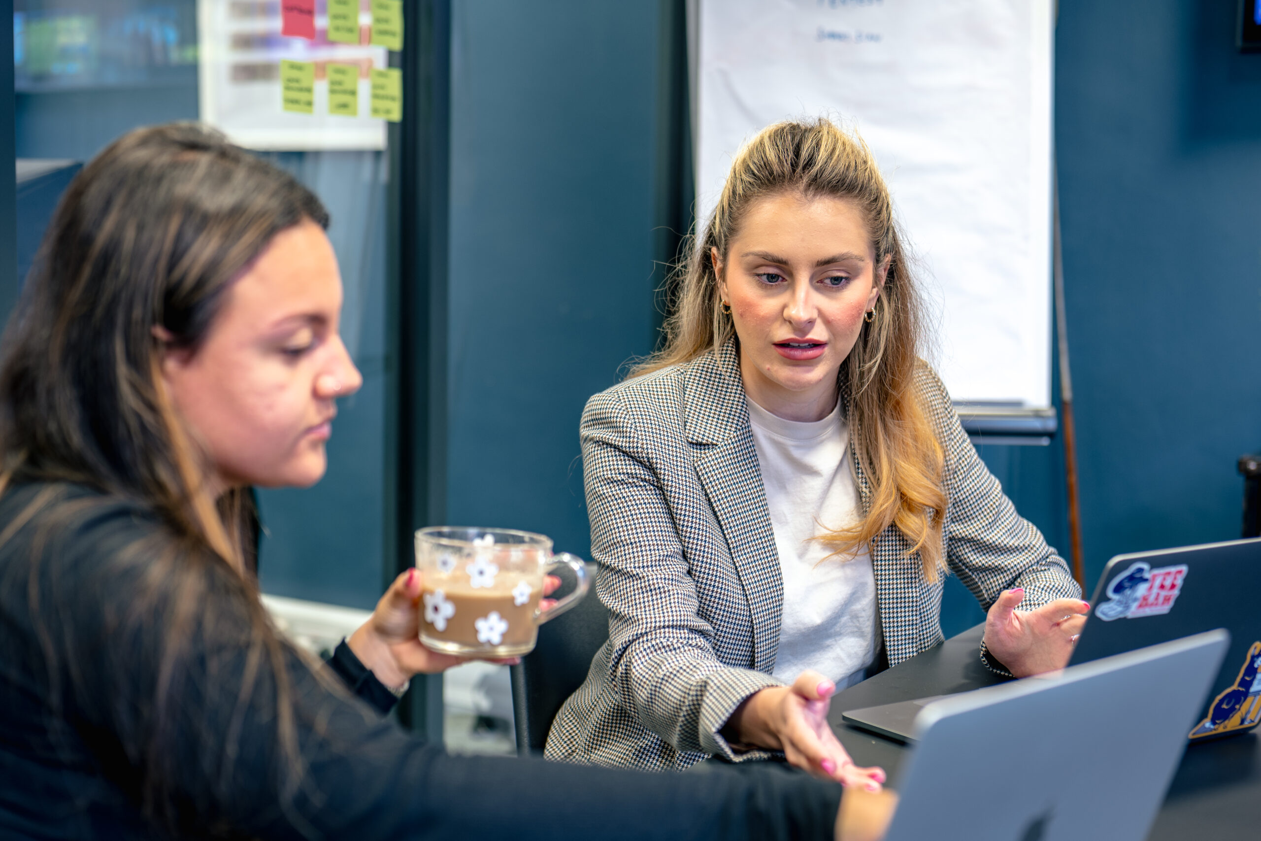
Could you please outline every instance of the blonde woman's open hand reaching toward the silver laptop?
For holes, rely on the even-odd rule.
[[[830,680],[807,670],[792,686],[770,686],[750,695],[731,714],[728,726],[738,741],[783,750],[788,764],[816,777],[878,792],[884,770],[855,765],[827,722],[835,691]]]

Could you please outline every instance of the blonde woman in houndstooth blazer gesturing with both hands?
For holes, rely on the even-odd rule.
[[[1067,663],[1088,605],[981,463],[922,330],[861,140],[822,119],[754,137],[681,270],[663,349],[583,415],[609,641],[549,758],[782,751],[879,788],[827,700],[942,641],[947,574],[989,612],[987,666]]]

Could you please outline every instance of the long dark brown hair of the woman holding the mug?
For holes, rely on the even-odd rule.
[[[39,525],[33,546],[44,548],[32,550],[24,566],[32,593],[47,547],[73,531],[91,506],[82,497],[69,499],[66,487],[129,501],[164,526],[101,564],[112,576],[137,583],[127,604],[111,606],[119,622],[141,637],[153,637],[158,627],[164,633],[150,641],[161,678],[136,712],[140,722],[119,738],[145,768],[145,809],[168,825],[178,811],[173,780],[182,773],[177,730],[198,726],[198,716],[182,709],[194,701],[180,686],[195,685],[206,710],[261,699],[294,772],[286,791],[296,791],[300,779],[288,644],[257,598],[247,490],[209,496],[202,450],[164,393],[159,361],[164,345],[200,347],[233,281],[277,233],[304,221],[327,227],[319,199],[221,134],[192,124],[132,131],[71,183],[4,335],[0,493],[29,483],[43,483],[44,490],[0,542],[23,523]],[[21,569],[4,570],[5,586],[16,584]],[[224,591],[228,601],[218,598]],[[32,613],[43,605],[53,614],[33,618],[44,659],[55,663],[73,659],[66,652],[73,651],[67,646],[74,617],[52,598],[42,593],[37,604],[33,595]],[[207,676],[207,664],[193,662],[194,638],[240,652],[243,682],[221,685]],[[126,671],[126,653],[105,656]],[[47,673],[53,682],[69,675],[73,683],[82,668],[63,662]],[[49,687],[50,728],[58,726],[62,690],[76,687]],[[236,748],[222,749],[227,778]]]

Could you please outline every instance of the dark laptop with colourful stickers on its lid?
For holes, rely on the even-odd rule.
[[[1119,555],[1103,567],[1069,666],[1189,637],[1231,632],[1193,741],[1261,724],[1261,538]]]

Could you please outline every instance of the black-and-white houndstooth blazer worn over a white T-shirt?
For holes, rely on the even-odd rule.
[[[986,609],[1013,586],[1025,588],[1023,608],[1081,598],[977,456],[928,366],[917,388],[946,454],[951,571]],[[781,685],[770,676],[779,557],[734,343],[596,395],[581,439],[609,641],[557,714],[545,755],[644,769],[769,757],[736,753],[719,733],[744,699]],[[852,453],[866,511],[871,488]],[[871,551],[890,666],[942,642],[942,584],[924,579],[908,548],[890,526]]]

